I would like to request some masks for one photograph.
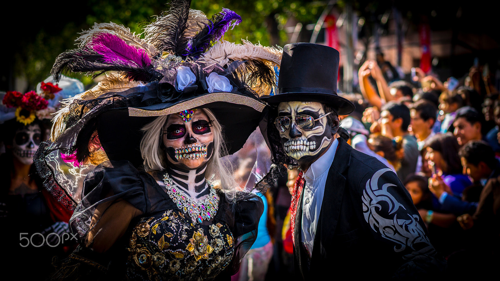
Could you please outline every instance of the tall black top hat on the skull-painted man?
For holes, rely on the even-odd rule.
[[[268,103],[317,101],[339,115],[354,111],[354,104],[337,95],[339,53],[336,49],[313,43],[286,44],[279,69],[277,94],[262,96]]]

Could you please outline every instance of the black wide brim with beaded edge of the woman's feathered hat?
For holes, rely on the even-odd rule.
[[[156,82],[147,85],[149,91],[161,89]],[[152,86],[152,87],[151,87]],[[137,87],[140,92],[146,87]],[[127,90],[133,92],[134,88]],[[132,95],[134,93],[131,93]],[[147,104],[147,103],[145,103]],[[239,150],[255,130],[266,104],[255,97],[236,92],[193,91],[177,98],[153,104],[113,108],[102,112],[97,121],[100,144],[111,160],[128,160],[135,166],[142,164],[139,144],[141,128],[157,116],[175,114],[186,109],[208,108],[222,126],[222,136],[228,154]]]

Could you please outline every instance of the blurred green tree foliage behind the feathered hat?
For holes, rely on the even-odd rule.
[[[205,12],[208,17],[222,7],[234,10],[242,22],[224,35],[224,39],[239,43],[241,39],[263,45],[284,45],[287,35],[284,25],[289,17],[303,23],[314,23],[327,1],[310,0],[193,0],[191,8]],[[52,7],[44,7],[52,11]],[[115,22],[140,33],[141,23],[153,20],[152,15],[165,10],[165,0],[88,0],[78,2],[73,9],[66,9],[60,20],[36,21],[31,26],[31,36],[16,40],[14,49],[14,76],[25,76],[28,88],[45,79],[55,57],[66,49],[75,47],[78,32],[90,28],[94,22]],[[43,10],[33,11],[43,14]],[[50,12],[48,12],[50,14]],[[52,15],[59,16],[61,11]],[[52,17],[51,17],[52,18]],[[70,73],[90,86],[92,79],[80,73]]]

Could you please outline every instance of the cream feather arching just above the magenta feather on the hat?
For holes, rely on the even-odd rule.
[[[149,57],[153,57],[158,53],[152,45],[139,38],[138,35],[135,35],[135,32],[132,33],[129,28],[113,22],[94,23],[92,28],[82,32],[81,36],[76,40],[80,41],[79,46],[81,47],[88,44],[93,37],[99,33],[108,33],[118,36],[125,41],[126,44],[143,49]]]

